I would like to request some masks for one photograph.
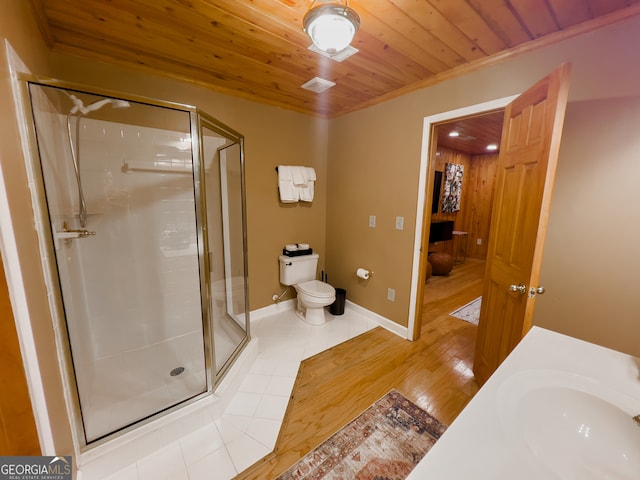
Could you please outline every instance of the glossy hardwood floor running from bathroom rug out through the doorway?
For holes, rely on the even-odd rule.
[[[275,450],[236,479],[277,477],[393,388],[450,424],[478,385],[477,327],[449,313],[481,295],[483,274],[484,262],[468,259],[429,279],[416,342],[378,327],[305,360]]]

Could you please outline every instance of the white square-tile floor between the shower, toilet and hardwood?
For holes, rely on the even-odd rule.
[[[273,449],[300,361],[377,326],[348,306],[344,315],[327,313],[327,319],[322,326],[307,325],[289,309],[252,321],[258,354],[222,416],[201,417],[201,426],[183,428],[188,434],[179,440],[173,440],[180,436],[174,431],[167,432],[169,442],[129,446],[119,453],[124,458],[105,463],[102,472],[97,463],[82,479],[233,478]]]

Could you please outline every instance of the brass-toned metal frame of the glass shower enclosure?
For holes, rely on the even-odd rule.
[[[20,84],[20,96],[22,102],[22,110],[26,115],[28,123],[28,144],[27,144],[27,175],[30,183],[33,185],[31,189],[32,205],[36,221],[36,230],[38,232],[39,249],[44,264],[45,282],[49,291],[54,295],[49,295],[49,309],[54,322],[54,333],[58,357],[60,359],[60,370],[63,382],[66,386],[65,397],[69,416],[73,423],[72,434],[74,443],[79,453],[90,450],[94,447],[107,443],[113,439],[129,433],[142,425],[150,423],[158,418],[164,417],[177,410],[191,405],[205,397],[212,395],[215,387],[220,383],[224,376],[228,373],[231,365],[237,357],[242,353],[244,347],[251,340],[250,319],[249,319],[249,285],[248,285],[248,255],[247,255],[247,214],[246,214],[246,181],[245,181],[245,159],[244,159],[244,136],[234,129],[228,127],[224,123],[216,120],[206,112],[203,112],[196,106],[157,100],[143,96],[123,94],[104,89],[96,89],[86,85],[75,84],[72,82],[61,81],[57,79],[39,77],[29,74],[18,74]],[[82,412],[80,409],[80,399],[75,381],[74,366],[71,357],[71,345],[66,335],[66,318],[64,305],[62,301],[62,290],[59,283],[59,272],[56,263],[54,251],[54,238],[50,225],[50,217],[47,206],[44,178],[40,167],[40,154],[36,139],[35,116],[31,105],[31,95],[29,85],[38,85],[43,87],[53,87],[65,90],[67,92],[86,93],[90,95],[98,95],[106,98],[124,100],[133,103],[142,103],[149,106],[168,108],[172,110],[189,113],[189,122],[191,130],[191,151],[193,158],[193,181],[195,193],[195,214],[196,214],[196,232],[198,243],[198,267],[200,277],[200,299],[202,308],[202,326],[203,341],[205,350],[205,367],[207,389],[205,392],[198,394],[188,400],[178,403],[161,412],[156,412],[150,417],[140,420],[130,426],[122,428],[112,434],[101,439],[88,443],[85,438],[82,426]],[[219,373],[215,369],[215,349],[214,349],[214,331],[213,331],[213,315],[211,309],[211,275],[209,262],[209,243],[208,243],[208,225],[207,225],[207,206],[205,191],[205,169],[204,169],[204,151],[203,142],[201,141],[203,128],[208,128],[215,133],[225,137],[231,144],[238,144],[240,147],[240,181],[242,195],[242,242],[244,255],[244,309],[245,309],[245,330],[246,335],[240,344],[236,347],[233,354],[224,364]]]

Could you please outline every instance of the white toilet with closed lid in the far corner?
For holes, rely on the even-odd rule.
[[[288,257],[280,255],[280,283],[293,285],[298,293],[296,315],[311,325],[326,322],[324,307],[336,300],[336,289],[316,280],[317,253]]]

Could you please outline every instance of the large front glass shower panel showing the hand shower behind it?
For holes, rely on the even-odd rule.
[[[90,443],[208,388],[191,114],[29,91]]]

